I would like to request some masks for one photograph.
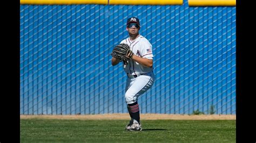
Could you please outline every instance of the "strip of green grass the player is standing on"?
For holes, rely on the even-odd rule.
[[[235,142],[235,120],[142,120],[143,131],[125,131],[127,120],[21,119],[21,142]]]

